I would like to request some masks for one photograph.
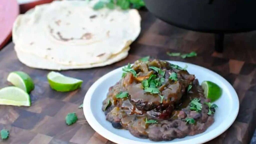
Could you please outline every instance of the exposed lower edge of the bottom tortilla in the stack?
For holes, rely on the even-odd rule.
[[[17,57],[23,64],[32,68],[50,69],[50,70],[67,70],[67,69],[84,69],[84,68],[92,68],[92,67],[102,67],[102,66],[113,64],[116,61],[122,60],[125,57],[127,57],[129,49],[130,47],[123,49],[122,52],[113,55],[111,58],[109,58],[103,63],[89,64],[89,65],[76,65],[76,66],[57,64],[54,61],[37,57],[36,55],[30,54],[30,53],[24,53],[19,49],[16,50],[16,53],[17,53]]]

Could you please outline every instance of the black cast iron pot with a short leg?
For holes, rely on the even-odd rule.
[[[222,51],[224,33],[256,29],[256,0],[144,0],[159,19],[177,27],[216,34]]]

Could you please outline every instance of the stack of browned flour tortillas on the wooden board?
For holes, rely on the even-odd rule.
[[[141,30],[138,11],[103,8],[93,1],[54,1],[19,15],[13,42],[33,68],[64,70],[112,64],[128,55]]]

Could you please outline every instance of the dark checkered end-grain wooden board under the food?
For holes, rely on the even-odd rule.
[[[256,127],[256,32],[227,35],[224,52],[219,54],[214,52],[214,35],[180,29],[156,19],[148,12],[140,13],[142,32],[131,45],[126,59],[100,68],[61,72],[84,80],[82,88],[76,91],[52,90],[46,78],[49,70],[33,69],[20,63],[13,43],[1,50],[0,87],[9,85],[6,79],[11,71],[21,70],[34,79],[35,90],[30,94],[31,107],[0,106],[0,129],[10,131],[9,139],[0,140],[0,143],[111,144],[88,125],[83,110],[78,106],[89,87],[102,75],[147,55],[200,65],[226,78],[238,93],[239,114],[226,132],[208,143],[249,143]],[[196,51],[198,56],[187,59],[169,57],[167,51]],[[79,117],[77,123],[71,126],[65,123],[65,116],[69,112],[76,112]]]

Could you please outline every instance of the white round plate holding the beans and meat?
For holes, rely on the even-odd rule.
[[[172,141],[154,142],[150,141],[149,139],[136,138],[131,135],[128,130],[113,128],[111,123],[105,120],[105,115],[101,110],[101,107],[102,101],[106,98],[109,87],[115,85],[115,83],[120,80],[122,68],[115,69],[104,75],[98,79],[87,91],[83,101],[83,111],[90,126],[101,136],[118,144],[204,143],[216,138],[221,133],[226,131],[236,119],[239,110],[239,100],[234,88],[226,79],[209,69],[178,61],[169,62],[181,67],[184,67],[187,64],[188,72],[190,74],[194,74],[199,80],[200,84],[204,80],[209,80],[218,84],[222,88],[222,96],[215,102],[215,104],[217,104],[219,107],[214,116],[215,122],[205,132],[195,136],[187,136],[182,139],[174,139]]]

